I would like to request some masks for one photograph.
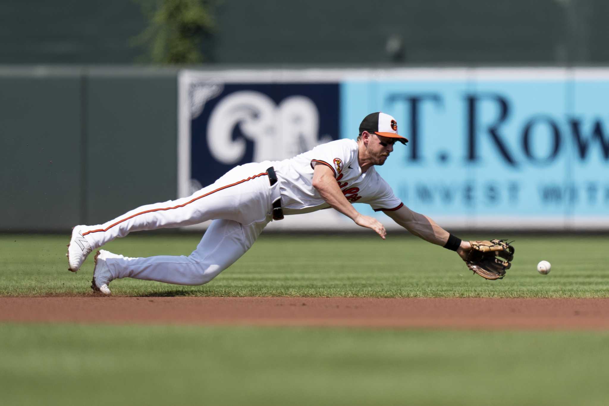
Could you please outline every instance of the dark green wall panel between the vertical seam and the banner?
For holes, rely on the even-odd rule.
[[[89,76],[86,223],[176,198],[176,75]]]

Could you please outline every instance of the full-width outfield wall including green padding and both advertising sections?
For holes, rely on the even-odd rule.
[[[584,68],[0,67],[0,230],[183,197],[237,164],[356,138],[379,110],[410,139],[379,173],[446,228],[609,229],[608,91],[609,69]],[[358,229],[333,211],[269,228]]]

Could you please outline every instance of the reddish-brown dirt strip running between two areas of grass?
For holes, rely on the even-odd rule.
[[[0,321],[609,329],[609,299],[0,297]]]

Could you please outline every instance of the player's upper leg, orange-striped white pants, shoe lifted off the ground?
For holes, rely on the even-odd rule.
[[[269,184],[264,164],[238,166],[189,197],[141,206],[104,224],[76,226],[68,246],[69,270],[77,271],[91,251],[132,231],[182,227],[213,219],[246,225],[264,220],[278,193],[278,184]]]

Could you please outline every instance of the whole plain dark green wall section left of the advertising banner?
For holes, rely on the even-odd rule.
[[[0,67],[0,231],[175,198],[177,71]]]

